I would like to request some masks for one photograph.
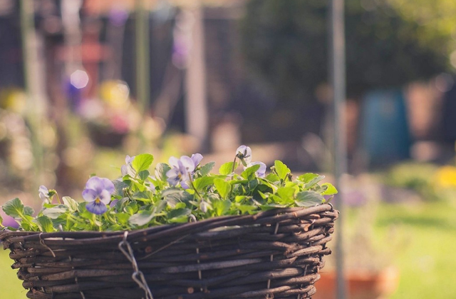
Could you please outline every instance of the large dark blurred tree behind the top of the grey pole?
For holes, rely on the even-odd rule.
[[[432,6],[429,18],[437,18],[443,4],[456,6],[452,0],[420,2]],[[423,11],[412,0],[346,0],[348,97],[450,70],[456,19],[427,26]],[[242,51],[247,65],[277,98],[295,103],[312,98],[318,84],[327,80],[327,21],[328,1],[247,3]]]

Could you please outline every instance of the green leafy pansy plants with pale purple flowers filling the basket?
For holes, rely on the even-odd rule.
[[[171,157],[169,164],[158,163],[151,176],[151,154],[127,156],[117,180],[89,178],[82,193],[84,202],[68,196],[60,199],[55,190],[41,186],[43,205],[37,216],[19,198],[2,208],[19,222],[20,230],[115,231],[316,206],[337,193],[331,183],[319,184],[324,176],[316,173],[294,179],[281,161],[275,161],[266,175],[266,165],[252,162],[248,146],[237,148],[234,161],[224,163],[218,173],[210,173],[215,163],[202,165],[202,158],[199,153]],[[236,172],[239,166],[243,170]],[[53,203],[54,197],[58,203]]]

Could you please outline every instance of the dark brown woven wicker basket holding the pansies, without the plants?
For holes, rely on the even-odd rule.
[[[36,299],[311,298],[338,211],[286,208],[130,232],[4,231]]]

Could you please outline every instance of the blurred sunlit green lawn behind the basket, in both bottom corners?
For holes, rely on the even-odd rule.
[[[456,298],[456,206],[442,202],[381,203],[377,212],[375,238],[388,240],[393,230],[394,244],[379,246],[388,250],[393,247],[390,262],[400,270],[398,290],[389,299]],[[0,297],[24,299],[26,291],[11,263],[8,251],[1,250]]]

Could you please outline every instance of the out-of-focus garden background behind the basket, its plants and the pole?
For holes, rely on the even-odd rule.
[[[331,181],[328,3],[0,0],[0,205],[81,198],[126,154],[220,165],[241,144]],[[456,298],[456,1],[345,9],[348,298]],[[0,296],[25,298],[11,263]]]

